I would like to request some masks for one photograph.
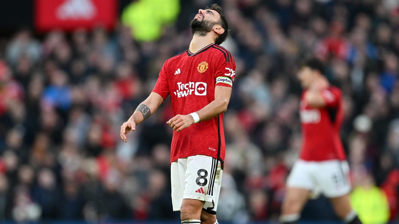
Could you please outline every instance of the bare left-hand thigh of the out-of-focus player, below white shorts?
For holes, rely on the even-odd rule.
[[[310,191],[308,189],[288,187],[282,204],[282,214],[287,215],[301,212],[309,196]]]

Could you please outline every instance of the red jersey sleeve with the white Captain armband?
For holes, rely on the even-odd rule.
[[[235,62],[230,52],[226,52],[227,57],[221,55],[215,72],[216,86],[233,87],[235,78]],[[227,58],[227,59],[226,59]]]

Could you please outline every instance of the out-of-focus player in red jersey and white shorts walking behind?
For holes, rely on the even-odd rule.
[[[280,223],[294,224],[311,193],[330,198],[336,214],[349,224],[360,224],[350,206],[349,166],[340,140],[342,93],[323,76],[324,65],[310,59],[299,68],[305,89],[300,102],[303,145],[287,179]],[[319,192],[320,193],[320,192]]]

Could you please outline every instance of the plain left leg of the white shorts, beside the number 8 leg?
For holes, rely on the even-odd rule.
[[[173,211],[179,211],[183,202],[186,181],[187,158],[180,158],[170,164]]]

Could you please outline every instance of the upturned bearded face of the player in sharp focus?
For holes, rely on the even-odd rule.
[[[205,36],[214,26],[219,26],[220,15],[215,10],[198,10],[198,14],[191,21],[193,34]]]

